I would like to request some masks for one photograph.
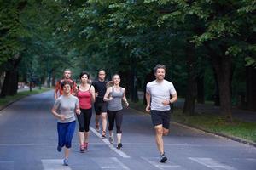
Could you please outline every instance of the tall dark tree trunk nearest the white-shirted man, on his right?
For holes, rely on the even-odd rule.
[[[196,74],[195,74],[195,53],[193,48],[187,49],[188,56],[188,82],[187,82],[187,93],[185,97],[185,103],[183,106],[183,113],[187,115],[195,115],[195,96],[196,96]]]

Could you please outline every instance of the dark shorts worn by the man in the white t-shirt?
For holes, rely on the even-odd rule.
[[[151,120],[155,126],[163,125],[164,128],[169,129],[170,120],[171,120],[171,112],[170,111],[155,111],[151,110]]]

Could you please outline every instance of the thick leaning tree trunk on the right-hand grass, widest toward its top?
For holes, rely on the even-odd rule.
[[[227,55],[218,56],[216,54],[212,55],[211,58],[218,80],[221,114],[224,115],[228,121],[232,121],[230,94],[231,58]]]

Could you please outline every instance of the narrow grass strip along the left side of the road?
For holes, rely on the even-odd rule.
[[[32,92],[27,90],[27,91],[18,92],[13,96],[6,96],[5,98],[0,98],[0,108],[3,107],[4,105],[8,105],[11,102],[14,102],[17,99],[21,99],[32,94],[40,94],[40,93],[49,91],[50,89],[51,88],[41,88],[41,89],[32,88]]]

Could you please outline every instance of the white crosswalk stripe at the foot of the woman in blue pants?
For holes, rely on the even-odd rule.
[[[71,170],[70,167],[63,165],[61,159],[44,159],[41,160],[44,170]]]

